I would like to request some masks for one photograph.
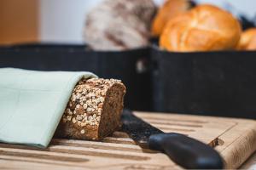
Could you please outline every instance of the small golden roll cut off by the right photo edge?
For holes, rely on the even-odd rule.
[[[256,50],[256,28],[250,28],[241,33],[237,49]]]

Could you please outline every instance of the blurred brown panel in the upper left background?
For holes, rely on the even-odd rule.
[[[37,41],[39,8],[38,0],[0,0],[0,44]]]

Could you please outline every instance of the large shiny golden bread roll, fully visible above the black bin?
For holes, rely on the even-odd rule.
[[[241,26],[232,14],[202,4],[168,22],[160,36],[160,47],[169,51],[193,52],[236,48]]]

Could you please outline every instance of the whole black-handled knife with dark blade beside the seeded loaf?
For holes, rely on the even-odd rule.
[[[124,110],[121,116],[122,130],[137,144],[150,150],[158,150],[172,161],[187,169],[223,169],[218,152],[207,144],[180,133],[164,133],[148,122]]]

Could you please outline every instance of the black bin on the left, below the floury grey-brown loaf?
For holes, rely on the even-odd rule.
[[[0,48],[0,67],[37,71],[91,71],[103,78],[117,78],[127,87],[125,107],[152,111],[151,75],[138,71],[147,63],[148,48],[124,52],[94,52],[85,45],[24,44]]]

